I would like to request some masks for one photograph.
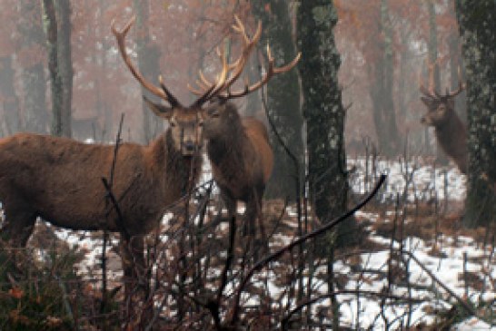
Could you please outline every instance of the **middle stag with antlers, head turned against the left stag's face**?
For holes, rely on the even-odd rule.
[[[234,30],[243,36],[243,54],[236,63],[244,63],[253,51],[262,33],[259,23],[253,39],[245,33],[241,21],[236,18]],[[220,54],[220,52],[219,52]],[[277,73],[291,70],[300,59],[298,54],[291,63],[283,67],[274,67],[274,59],[270,47],[267,45],[268,68],[261,81],[246,85],[244,89],[233,92],[230,86],[240,76],[243,66],[228,64],[223,54],[223,72],[232,71],[230,78],[222,87],[215,88],[213,83],[205,79],[200,73],[199,90],[190,89],[198,94],[217,89],[217,97],[206,108],[203,116],[203,138],[207,141],[207,154],[212,164],[213,179],[221,190],[221,195],[231,219],[236,213],[236,203],[241,200],[246,205],[244,213],[245,226],[250,235],[255,235],[255,219],[259,221],[259,228],[264,239],[262,222],[262,197],[265,184],[273,170],[273,151],[269,143],[268,132],[263,122],[253,118],[242,118],[231,99],[242,97],[253,92]],[[246,232],[246,231],[245,231]]]

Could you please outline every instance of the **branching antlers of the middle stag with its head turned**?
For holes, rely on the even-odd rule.
[[[267,57],[269,61],[269,66],[263,75],[262,80],[257,83],[253,83],[249,85],[245,83],[245,87],[243,90],[230,92],[230,88],[234,82],[238,80],[238,78],[243,73],[244,65],[248,60],[248,56],[252,54],[255,44],[259,41],[260,36],[262,34],[262,24],[259,22],[257,25],[257,29],[253,38],[250,39],[246,34],[246,30],[244,28],[243,23],[238,18],[238,16],[234,16],[236,24],[233,25],[233,29],[237,34],[240,34],[243,40],[243,51],[240,57],[233,63],[227,63],[227,59],[225,58],[225,54],[222,51],[219,51],[217,48],[217,54],[221,59],[221,63],[223,64],[223,69],[219,74],[216,83],[211,83],[203,74],[202,71],[199,73],[199,80],[196,82],[198,88],[195,89],[188,84],[188,88],[191,92],[196,95],[200,95],[200,98],[196,101],[197,104],[202,104],[208,100],[211,100],[213,97],[218,96],[223,99],[233,99],[242,97],[248,93],[251,93],[259,88],[261,88],[264,84],[269,82],[269,80],[273,77],[274,74],[277,73],[285,73],[291,70],[296,63],[300,60],[301,54],[297,54],[291,63],[288,63],[282,67],[274,67],[274,59],[272,56],[271,48],[267,44]]]

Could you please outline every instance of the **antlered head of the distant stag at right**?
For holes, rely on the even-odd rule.
[[[454,98],[460,94],[465,86],[461,83],[460,68],[458,68],[458,89],[449,91],[446,89],[445,94],[441,94],[434,88],[434,65],[429,65],[429,87],[426,88],[421,80],[420,90],[424,96],[421,97],[423,104],[427,107],[427,113],[422,116],[421,123],[436,128],[442,128],[453,116],[457,116],[454,112]]]

